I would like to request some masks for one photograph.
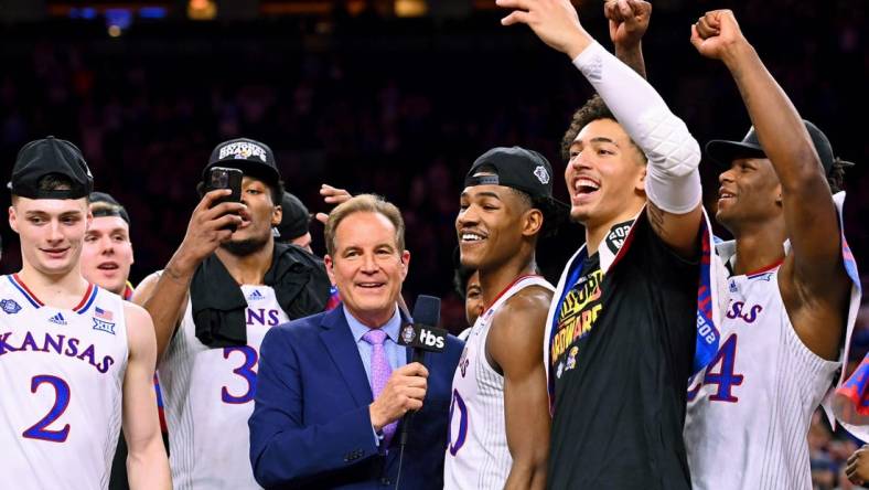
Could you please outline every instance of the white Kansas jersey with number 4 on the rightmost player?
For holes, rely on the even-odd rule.
[[[689,384],[685,444],[695,489],[811,489],[806,436],[839,362],[797,337],[779,266],[728,279],[718,353]]]

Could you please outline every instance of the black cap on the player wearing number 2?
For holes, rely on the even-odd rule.
[[[40,190],[40,180],[51,173],[67,178],[72,183],[71,189]],[[94,190],[94,177],[75,145],[49,136],[21,148],[7,188],[13,195],[21,198],[82,199]]]

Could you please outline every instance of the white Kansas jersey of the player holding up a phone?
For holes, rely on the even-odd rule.
[[[289,321],[275,290],[242,286],[247,345],[210,349],[196,338],[191,302],[158,366],[178,490],[260,488],[250,468],[247,419],[254,412],[259,345]]]

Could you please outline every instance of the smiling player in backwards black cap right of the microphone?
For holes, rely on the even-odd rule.
[[[478,270],[485,308],[453,376],[447,489],[543,489],[549,408],[543,342],[552,286],[535,247],[566,206],[539,153],[494,148],[474,161],[455,219],[461,263]],[[566,214],[566,213],[565,213]]]

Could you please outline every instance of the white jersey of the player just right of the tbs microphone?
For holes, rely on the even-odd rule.
[[[555,290],[541,276],[518,278],[476,319],[468,335],[452,379],[444,489],[502,489],[507,480],[513,457],[507,448],[504,422],[504,376],[490,365],[485,345],[497,310],[529,286]],[[528,349],[536,348],[528,345]]]

